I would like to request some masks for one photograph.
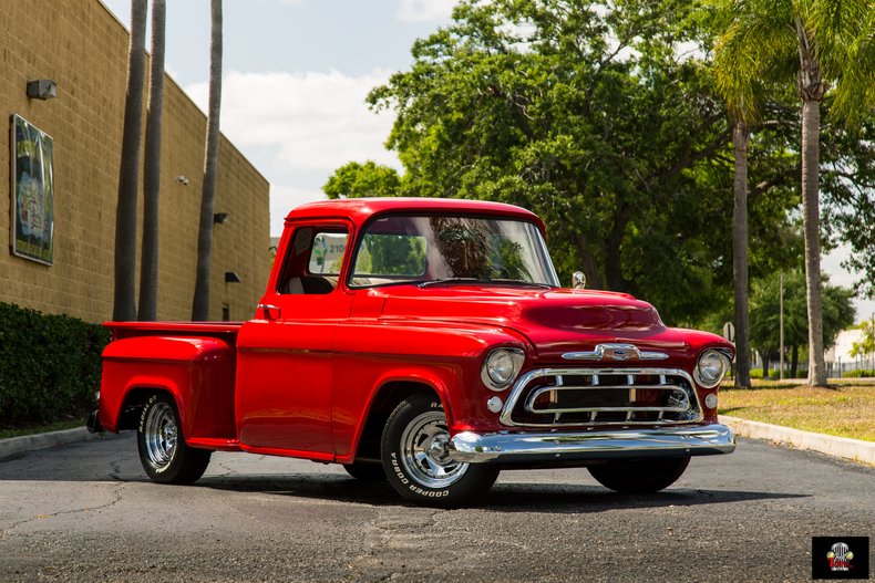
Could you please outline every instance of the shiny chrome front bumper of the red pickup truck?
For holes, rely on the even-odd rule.
[[[450,456],[471,464],[586,461],[731,454],[735,436],[720,424],[612,431],[457,434]]]

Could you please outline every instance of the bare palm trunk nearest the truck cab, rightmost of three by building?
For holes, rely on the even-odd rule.
[[[222,0],[210,0],[209,111],[204,154],[204,188],[197,235],[197,274],[192,320],[209,319],[209,262],[213,256],[213,205],[218,170],[219,108],[222,105]]]

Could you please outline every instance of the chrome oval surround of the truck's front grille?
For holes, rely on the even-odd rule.
[[[676,375],[683,377],[689,384],[690,389],[693,394],[697,405],[698,416],[693,419],[689,419],[686,423],[699,423],[702,420],[702,404],[699,400],[699,393],[696,391],[696,383],[693,383],[692,377],[689,373],[681,371],[680,368],[535,368],[534,371],[529,371],[522,375],[519,378],[516,379],[514,383],[511,393],[507,395],[507,400],[504,403],[504,408],[502,409],[502,414],[498,416],[498,420],[502,425],[506,425],[508,427],[575,427],[580,426],[584,424],[575,423],[575,424],[517,424],[512,419],[514,407],[516,407],[519,397],[522,396],[525,388],[528,384],[543,376],[591,376],[593,377],[593,386],[607,386],[610,385],[603,385],[597,383],[599,375],[658,375],[658,376],[668,376],[668,375]],[[563,385],[567,386],[567,385]],[[553,387],[556,391],[556,387]],[[622,386],[618,386],[617,388],[622,388]],[[597,412],[590,413],[590,420],[589,423],[596,423],[596,415]],[[660,414],[661,417],[661,414]],[[669,419],[661,419],[657,423],[684,423],[678,420],[669,420]],[[653,421],[612,421],[606,423],[605,425],[653,425]]]

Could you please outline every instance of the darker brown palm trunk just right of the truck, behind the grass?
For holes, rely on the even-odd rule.
[[[748,142],[750,128],[735,119],[732,145],[735,150],[732,214],[732,274],[735,284],[735,386],[750,388],[751,361],[748,323]],[[768,373],[763,368],[763,377]]]

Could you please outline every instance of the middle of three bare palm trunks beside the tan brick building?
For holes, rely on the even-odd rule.
[[[143,162],[143,248],[140,258],[137,320],[158,317],[158,195],[161,190],[161,118],[164,102],[165,0],[152,0],[152,62],[148,73],[146,150]]]

